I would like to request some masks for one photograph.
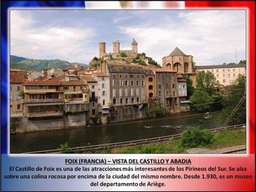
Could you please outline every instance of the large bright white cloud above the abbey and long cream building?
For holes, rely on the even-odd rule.
[[[127,36],[136,36],[139,51],[157,63],[162,63],[163,56],[179,47],[185,54],[194,56],[197,65],[221,64],[216,63],[216,58],[219,62],[236,61],[227,55],[235,53],[237,45],[245,58],[245,14],[232,11],[182,12],[180,20],[166,24],[160,22],[161,28],[142,25],[120,26],[119,29]]]

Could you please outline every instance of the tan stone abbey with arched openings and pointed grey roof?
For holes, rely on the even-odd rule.
[[[168,55],[163,57],[163,68],[175,70],[177,74],[185,74],[193,81],[193,86],[196,87],[195,62],[193,56],[186,55],[180,51],[178,47]]]

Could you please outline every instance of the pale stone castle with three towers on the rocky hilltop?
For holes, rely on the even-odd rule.
[[[133,39],[131,44],[131,50],[120,50],[120,42],[116,40],[113,42],[113,52],[106,53],[106,43],[99,42],[99,58],[107,60],[109,57],[120,58],[120,54],[124,52],[128,58],[136,57],[138,54],[138,43]]]

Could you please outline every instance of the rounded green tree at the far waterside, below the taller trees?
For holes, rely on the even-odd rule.
[[[205,112],[211,108],[212,97],[202,88],[196,88],[189,101],[196,111]]]

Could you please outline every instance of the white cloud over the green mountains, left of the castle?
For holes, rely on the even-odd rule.
[[[92,28],[61,26],[35,27],[36,22],[20,11],[11,12],[10,52],[13,55],[35,59],[60,59],[70,62],[87,61],[93,36]]]

